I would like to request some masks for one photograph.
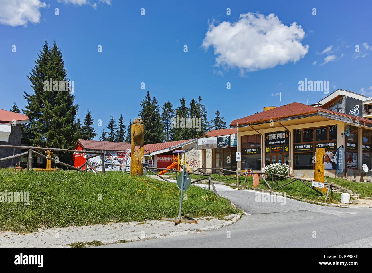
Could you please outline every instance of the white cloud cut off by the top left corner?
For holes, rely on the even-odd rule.
[[[26,26],[28,22],[40,23],[40,10],[47,7],[39,0],[1,0],[0,23],[9,26]]]

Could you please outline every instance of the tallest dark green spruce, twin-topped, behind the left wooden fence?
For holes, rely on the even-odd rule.
[[[23,95],[26,105],[22,111],[30,118],[25,130],[25,138],[28,139],[25,144],[71,149],[78,130],[78,105],[74,104],[73,92],[65,89],[64,82],[69,81],[69,78],[56,43],[49,48],[45,40],[28,78],[33,93],[24,92]],[[52,88],[49,88],[49,84],[44,84],[44,81],[50,79]],[[61,161],[67,160],[64,162],[72,160],[68,153],[59,156]]]

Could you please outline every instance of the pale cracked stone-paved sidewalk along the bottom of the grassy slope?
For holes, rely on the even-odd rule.
[[[138,241],[160,237],[173,237],[207,230],[215,230],[236,222],[240,215],[223,218],[195,218],[198,224],[150,220],[146,222],[115,223],[83,227],[42,228],[33,233],[0,232],[0,247],[70,247],[71,243],[101,241],[103,244],[120,240]],[[224,220],[223,220],[224,219]]]

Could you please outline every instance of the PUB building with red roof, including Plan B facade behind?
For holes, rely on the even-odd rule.
[[[363,102],[368,100],[372,105],[372,98],[336,90],[317,104],[265,107],[260,113],[232,120],[230,128],[238,126],[238,168],[260,171],[279,162],[290,166],[291,175],[314,178],[315,151],[322,147],[325,176],[335,177],[339,163],[338,177],[345,178],[347,172],[349,180],[371,181],[372,172],[362,170],[362,164],[369,170],[372,167],[372,120],[363,117]],[[337,161],[339,148],[342,162]]]

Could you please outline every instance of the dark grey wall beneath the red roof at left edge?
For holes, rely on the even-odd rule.
[[[0,145],[21,145],[21,124],[16,124],[10,129],[10,136],[7,142],[0,141]],[[20,149],[8,149],[0,148],[0,158],[16,155],[20,153]],[[8,168],[9,166],[16,166],[16,163],[20,161],[20,157],[15,159],[0,162],[0,168]]]

